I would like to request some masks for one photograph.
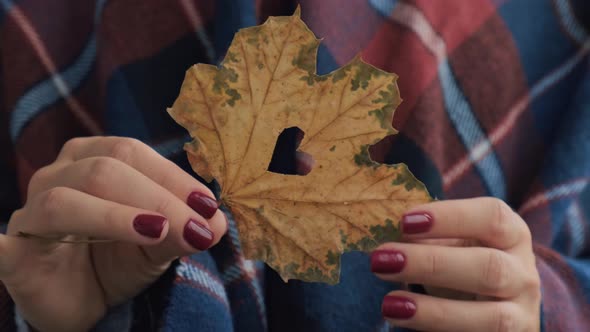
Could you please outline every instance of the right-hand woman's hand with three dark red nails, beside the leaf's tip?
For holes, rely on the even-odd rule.
[[[406,213],[402,230],[405,243],[387,243],[371,254],[372,271],[457,296],[391,292],[382,306],[391,324],[420,331],[539,331],[531,234],[504,202],[430,203]]]

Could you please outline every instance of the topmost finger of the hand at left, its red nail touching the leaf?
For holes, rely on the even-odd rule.
[[[58,159],[75,162],[92,157],[124,162],[185,201],[205,219],[222,213],[209,188],[139,140],[98,136],[73,139],[64,145]]]

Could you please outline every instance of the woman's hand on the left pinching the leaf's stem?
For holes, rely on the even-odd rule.
[[[174,259],[206,250],[226,229],[213,194],[148,146],[73,139],[33,175],[25,206],[0,236],[0,279],[35,328],[88,330]],[[19,232],[115,241],[59,243]]]

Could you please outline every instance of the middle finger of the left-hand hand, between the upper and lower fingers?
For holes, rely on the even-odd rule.
[[[146,252],[156,262],[202,251],[217,243],[226,230],[222,213],[209,223],[165,188],[113,158],[95,157],[61,169],[45,184],[69,187],[119,204],[158,212],[170,223],[166,239]]]

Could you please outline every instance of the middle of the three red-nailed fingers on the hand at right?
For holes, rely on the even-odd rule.
[[[529,279],[513,256],[497,249],[408,243],[387,243],[373,251],[371,271],[387,281],[497,298],[519,295]]]

